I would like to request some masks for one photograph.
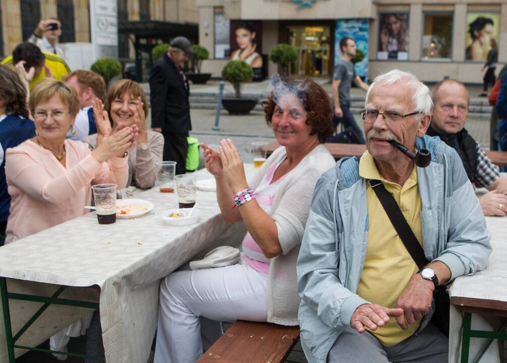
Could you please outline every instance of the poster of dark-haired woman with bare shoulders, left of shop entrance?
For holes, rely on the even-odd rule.
[[[252,68],[262,67],[260,21],[231,20],[231,59],[244,60]]]

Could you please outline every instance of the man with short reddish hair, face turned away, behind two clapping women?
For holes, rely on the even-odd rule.
[[[66,75],[62,81],[76,90],[81,104],[76,122],[73,128],[67,132],[66,138],[81,141],[86,136],[97,133],[92,102],[96,98],[104,101],[105,82],[100,75],[88,69],[75,70]]]

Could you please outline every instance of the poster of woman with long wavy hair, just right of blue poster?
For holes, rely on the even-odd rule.
[[[409,19],[407,13],[380,13],[378,59],[407,60]]]

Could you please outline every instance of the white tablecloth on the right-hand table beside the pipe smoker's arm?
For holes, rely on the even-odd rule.
[[[484,271],[473,276],[456,278],[449,295],[464,298],[489,299],[507,302],[507,217],[486,217],[491,232],[493,253],[489,265]],[[449,332],[449,361],[459,362],[461,357],[463,315],[459,309],[451,305],[451,321]],[[494,316],[472,315],[472,329],[495,331],[500,325],[500,318]],[[470,339],[469,361],[476,361],[488,344],[489,339]],[[496,341],[486,351],[482,362],[500,362]]]

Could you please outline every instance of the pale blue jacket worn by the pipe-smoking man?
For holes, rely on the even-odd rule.
[[[442,261],[451,279],[483,270],[490,234],[472,184],[456,151],[438,137],[416,139],[431,152],[417,168],[422,238],[426,258]],[[317,181],[297,263],[301,343],[309,362],[324,363],[355,309],[368,301],[356,295],[368,244],[367,180],[357,158],[342,159]],[[424,329],[434,304],[423,318]]]

